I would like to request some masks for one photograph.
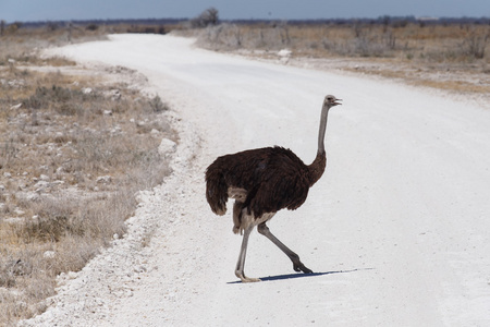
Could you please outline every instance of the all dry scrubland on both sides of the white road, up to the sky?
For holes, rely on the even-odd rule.
[[[170,173],[161,140],[177,142],[162,99],[110,78],[135,72],[93,77],[41,50],[172,31],[216,51],[490,95],[488,21],[221,22],[210,8],[189,21],[0,22],[0,326],[44,312],[57,276],[123,237],[135,193]]]

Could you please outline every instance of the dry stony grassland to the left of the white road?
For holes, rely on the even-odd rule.
[[[159,97],[35,70],[74,64],[39,58],[66,36],[48,32],[0,38],[0,326],[45,311],[59,274],[124,234],[135,193],[170,173],[161,138],[176,140]]]

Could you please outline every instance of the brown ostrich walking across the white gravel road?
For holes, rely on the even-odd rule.
[[[248,237],[255,226],[290,257],[295,271],[313,272],[269,231],[266,222],[280,209],[298,208],[306,201],[309,187],[322,175],[327,165],[323,144],[327,118],[330,108],[341,105],[339,100],[331,95],[323,100],[318,152],[311,165],[303,164],[292,150],[274,146],[219,157],[206,170],[206,197],[212,211],[224,215],[228,198],[235,199],[233,232],[243,234],[235,275],[242,282],[260,281],[244,272]]]

